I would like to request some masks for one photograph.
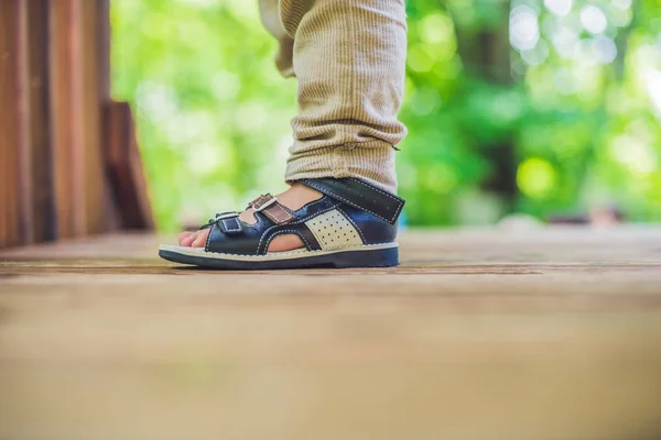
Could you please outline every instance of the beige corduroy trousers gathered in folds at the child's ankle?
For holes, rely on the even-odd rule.
[[[286,180],[357,177],[394,193],[407,57],[403,0],[260,0],[299,81]]]

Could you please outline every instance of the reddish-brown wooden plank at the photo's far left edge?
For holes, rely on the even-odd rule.
[[[20,244],[23,139],[21,4],[0,1],[0,248]]]

